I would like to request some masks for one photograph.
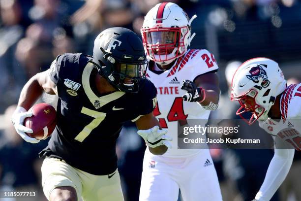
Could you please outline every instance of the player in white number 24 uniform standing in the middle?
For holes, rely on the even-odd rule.
[[[195,17],[189,19],[177,4],[163,2],[151,8],[141,29],[151,60],[147,77],[157,88],[154,115],[174,140],[162,156],[146,150],[140,201],[177,201],[179,189],[184,201],[222,200],[207,144],[203,149],[178,149],[177,144],[178,123],[205,119],[205,126],[220,93],[214,56],[205,49],[188,49]]]

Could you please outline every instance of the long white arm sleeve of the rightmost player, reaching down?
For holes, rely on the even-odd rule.
[[[288,174],[295,150],[294,149],[274,149],[275,153],[266,173],[265,180],[256,194],[255,199],[258,201],[270,201],[276,190],[284,181]]]

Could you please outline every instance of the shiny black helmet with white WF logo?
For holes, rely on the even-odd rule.
[[[148,61],[142,41],[125,28],[109,28],[97,35],[93,63],[102,77],[126,93],[137,93],[146,79]]]

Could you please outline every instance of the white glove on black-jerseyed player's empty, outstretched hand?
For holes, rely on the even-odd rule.
[[[172,147],[170,141],[173,140],[173,138],[166,135],[167,130],[160,130],[158,126],[149,130],[139,130],[137,133],[142,136],[147,145],[152,148],[161,145],[165,145],[168,148]]]

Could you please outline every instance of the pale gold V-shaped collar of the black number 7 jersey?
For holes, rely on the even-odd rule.
[[[95,109],[98,109],[113,100],[119,99],[125,94],[125,92],[117,91],[117,92],[113,92],[112,94],[108,94],[106,96],[97,97],[90,87],[90,74],[92,72],[92,69],[93,69],[93,64],[88,63],[83,71],[82,84],[88,99],[95,107]]]

